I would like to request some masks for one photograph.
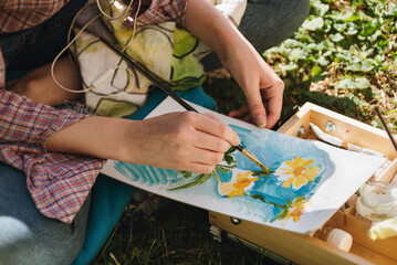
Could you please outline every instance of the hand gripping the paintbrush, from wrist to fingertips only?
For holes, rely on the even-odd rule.
[[[238,135],[213,114],[170,113],[142,120],[126,140],[123,157],[135,163],[209,173],[222,161]]]

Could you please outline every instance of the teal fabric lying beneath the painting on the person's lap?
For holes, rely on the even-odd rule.
[[[206,108],[213,110],[217,108],[215,100],[205,94],[201,87],[177,92],[177,94]],[[146,105],[128,118],[135,120],[145,118],[166,96],[159,89],[150,92]],[[117,224],[134,190],[133,187],[106,176],[98,176],[92,190],[85,243],[73,265],[90,264],[93,261]]]

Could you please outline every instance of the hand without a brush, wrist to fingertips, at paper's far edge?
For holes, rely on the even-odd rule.
[[[284,83],[242,38],[228,45],[223,66],[243,89],[247,103],[229,116],[271,128],[280,118]]]

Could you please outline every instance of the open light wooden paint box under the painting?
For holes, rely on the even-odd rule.
[[[391,180],[397,172],[397,156],[387,134],[380,129],[306,103],[278,131],[306,139],[316,138],[310,123],[326,131],[327,121],[335,125],[335,130],[327,134],[387,156],[393,162],[383,171],[379,180]],[[370,224],[355,216],[354,204],[338,210],[324,224],[352,234],[354,243],[349,252],[317,239],[316,234],[305,236],[249,221],[236,225],[230,216],[216,212],[209,212],[209,221],[222,231],[297,264],[397,264],[397,236],[372,242],[366,235]]]

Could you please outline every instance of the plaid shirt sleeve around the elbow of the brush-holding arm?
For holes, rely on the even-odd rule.
[[[46,152],[44,142],[85,117],[0,89],[0,161],[27,173],[28,190],[42,214],[66,223],[73,221],[104,160]]]

